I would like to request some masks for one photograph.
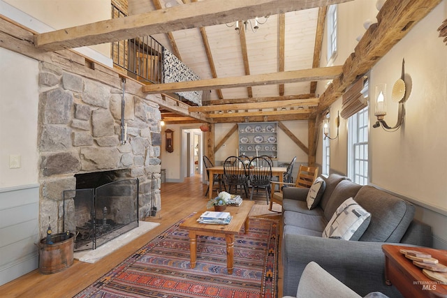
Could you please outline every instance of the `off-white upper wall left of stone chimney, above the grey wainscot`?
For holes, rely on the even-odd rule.
[[[37,184],[38,62],[0,47],[0,90],[0,188]]]

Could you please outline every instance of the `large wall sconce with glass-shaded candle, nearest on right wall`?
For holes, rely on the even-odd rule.
[[[386,121],[384,120],[386,116],[386,84],[378,84],[376,86],[376,104],[374,115],[377,117],[376,123],[372,126],[374,128],[378,128],[382,126],[385,131],[397,131],[400,126],[404,123],[405,119],[405,82],[404,82],[404,62],[402,61],[402,78],[397,80],[393,85],[393,91],[391,92],[391,100],[396,103],[399,103],[399,110],[397,112],[397,124],[393,127],[388,126]]]

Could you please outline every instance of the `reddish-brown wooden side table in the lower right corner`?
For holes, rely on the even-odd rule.
[[[439,263],[447,265],[447,251],[434,248],[395,246],[384,244],[385,278],[388,285],[395,285],[404,297],[447,297],[447,285],[432,281],[423,274],[422,268],[406,258],[400,249],[411,249],[423,253],[430,253]]]

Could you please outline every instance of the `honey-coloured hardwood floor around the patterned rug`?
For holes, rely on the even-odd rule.
[[[196,175],[195,177],[185,179],[182,184],[161,184],[161,210],[157,211],[156,216],[146,218],[146,221],[157,222],[160,225],[138,239],[135,239],[130,244],[119,248],[119,250],[94,264],[75,260],[71,267],[49,275],[41,274],[36,269],[14,281],[10,281],[10,283],[6,283],[6,285],[0,286],[0,296],[73,297],[171,225],[197,209],[203,208],[207,199],[204,197],[206,186],[201,181],[202,177]],[[250,216],[262,216],[273,219],[280,218],[279,214],[268,211],[268,205],[266,204],[263,191],[260,191],[256,196],[254,195],[254,200],[256,200],[256,204],[251,209]],[[276,209],[279,209],[279,207],[276,206]],[[281,277],[282,266],[281,256],[279,256],[278,297],[282,297]]]

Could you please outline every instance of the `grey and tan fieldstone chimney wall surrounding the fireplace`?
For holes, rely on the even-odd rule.
[[[41,62],[38,81],[41,237],[49,223],[54,233],[64,232],[62,193],[75,189],[78,173],[126,169],[128,178],[140,179],[140,218],[151,208],[154,174],[160,210],[159,105],[124,91],[127,140],[122,144],[122,86],[46,62]],[[73,209],[73,202],[66,202],[66,212]]]

